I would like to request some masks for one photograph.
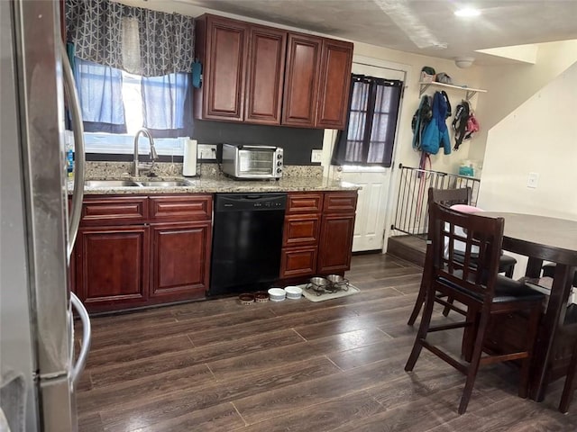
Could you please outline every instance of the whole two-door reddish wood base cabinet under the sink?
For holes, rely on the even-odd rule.
[[[89,312],[203,298],[211,218],[207,193],[87,196],[71,286]]]

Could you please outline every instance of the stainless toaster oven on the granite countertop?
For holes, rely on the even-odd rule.
[[[273,146],[223,144],[222,169],[234,178],[282,177],[283,151]]]

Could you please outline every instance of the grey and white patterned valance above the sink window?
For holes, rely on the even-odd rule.
[[[67,40],[78,58],[141,76],[189,72],[194,18],[110,0],[66,0]]]

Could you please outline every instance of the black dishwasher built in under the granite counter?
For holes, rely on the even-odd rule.
[[[216,193],[208,295],[257,291],[279,278],[286,193]]]

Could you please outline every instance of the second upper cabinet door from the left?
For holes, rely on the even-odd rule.
[[[280,124],[287,32],[251,26],[246,74],[244,119]]]

